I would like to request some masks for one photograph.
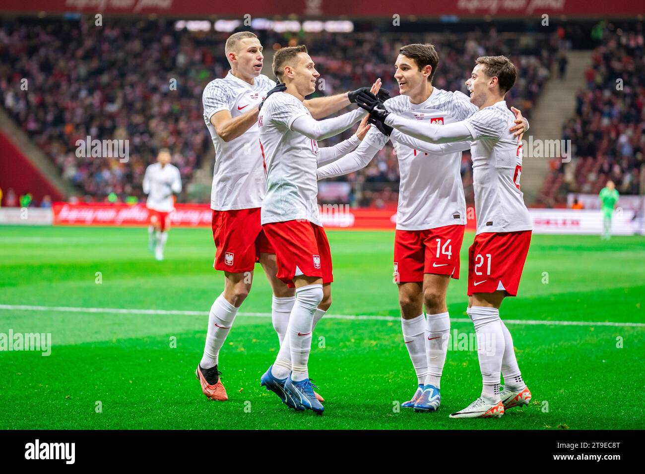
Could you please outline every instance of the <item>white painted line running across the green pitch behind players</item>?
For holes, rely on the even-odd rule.
[[[31,306],[27,304],[0,304],[0,310],[14,311],[57,311],[61,313],[115,313],[115,314],[151,314],[151,315],[177,315],[177,316],[208,316],[208,311],[183,311],[183,310],[135,310],[122,308],[75,308],[71,306]],[[271,317],[271,313],[237,313],[249,317]],[[398,316],[380,315],[345,315],[326,314],[326,319],[350,319],[370,321],[401,321]],[[468,318],[451,318],[452,322],[470,322]],[[508,324],[541,324],[543,326],[617,326],[630,328],[643,328],[643,322],[610,322],[610,321],[546,321],[535,319],[504,319]]]

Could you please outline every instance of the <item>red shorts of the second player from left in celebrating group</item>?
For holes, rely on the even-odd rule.
[[[332,251],[324,229],[310,221],[270,222],[264,233],[275,249],[278,272],[275,276],[294,288],[293,277],[320,277],[331,283]]]

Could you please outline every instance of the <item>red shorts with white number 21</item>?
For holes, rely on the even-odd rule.
[[[497,290],[517,295],[530,244],[530,230],[475,235],[468,250],[468,296]]]

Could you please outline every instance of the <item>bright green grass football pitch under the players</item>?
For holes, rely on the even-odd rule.
[[[194,371],[223,288],[210,230],[173,229],[157,262],[145,228],[0,227],[0,337],[50,333],[52,341],[46,357],[0,352],[0,428],[645,428],[645,237],[534,235],[519,296],[501,308],[533,400],[499,420],[453,420],[481,391],[465,313],[473,234],[448,291],[453,339],[441,408],[421,414],[398,408],[417,380],[402,344],[393,233],[328,236],[333,304],[309,363],[326,399],[316,416],[288,410],[259,386],[278,348],[259,266],[220,353],[229,400],[202,395]]]

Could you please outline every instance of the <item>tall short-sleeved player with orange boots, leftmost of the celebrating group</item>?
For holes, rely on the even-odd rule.
[[[284,90],[261,74],[262,50],[252,32],[231,35],[225,45],[231,70],[223,79],[208,83],[202,97],[204,122],[215,146],[211,208],[217,251],[213,266],[224,272],[224,291],[211,307],[203,357],[195,370],[204,395],[212,400],[228,400],[219,379],[219,351],[251,289],[255,263],[263,266],[272,287],[273,327],[280,342],[295,302],[293,289],[275,277],[275,250],[260,223],[266,177],[257,115],[268,95]],[[348,106],[350,96],[357,92],[319,97],[304,101],[304,106],[313,117],[326,117]]]

